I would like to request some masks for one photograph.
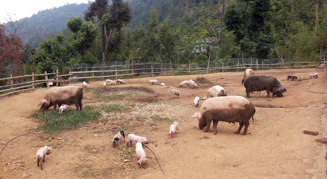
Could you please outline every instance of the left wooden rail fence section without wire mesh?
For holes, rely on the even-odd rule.
[[[56,75],[56,79],[48,79],[49,75]],[[58,86],[58,85],[63,86],[66,83],[71,82],[71,80],[70,79],[69,80],[59,80],[59,78],[64,77],[64,76],[71,76],[71,75],[72,74],[59,75],[58,69],[57,69],[56,73],[47,73],[47,72],[44,72],[44,74],[34,74],[34,73],[32,73],[32,75],[23,75],[23,76],[18,76],[18,77],[13,77],[13,75],[11,75],[9,78],[0,79],[0,81],[4,81],[4,80],[9,81],[10,80],[10,83],[11,83],[10,85],[0,86],[0,89],[11,87],[11,88],[8,88],[8,89],[0,90],[0,94],[4,93],[4,92],[7,92],[7,91],[12,91],[12,92],[1,94],[0,97],[6,96],[6,95],[9,95],[9,94],[13,94],[13,93],[17,93],[17,92],[34,90],[36,85],[43,84],[43,83],[46,83],[47,88],[50,88],[49,82],[50,83],[55,82],[56,86]],[[37,77],[37,76],[45,76],[45,80],[35,80],[35,77]],[[32,77],[32,80],[27,81],[27,82],[23,82],[23,83],[14,83],[15,79],[27,78],[27,77]],[[22,88],[25,88],[25,89],[22,89]]]

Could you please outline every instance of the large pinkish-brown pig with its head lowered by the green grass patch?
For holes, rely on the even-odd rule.
[[[37,104],[41,106],[40,109],[48,109],[53,106],[56,110],[57,104],[60,107],[61,104],[75,104],[76,110],[82,109],[81,100],[83,99],[83,88],[78,86],[65,86],[51,88],[45,94],[45,97]]]

